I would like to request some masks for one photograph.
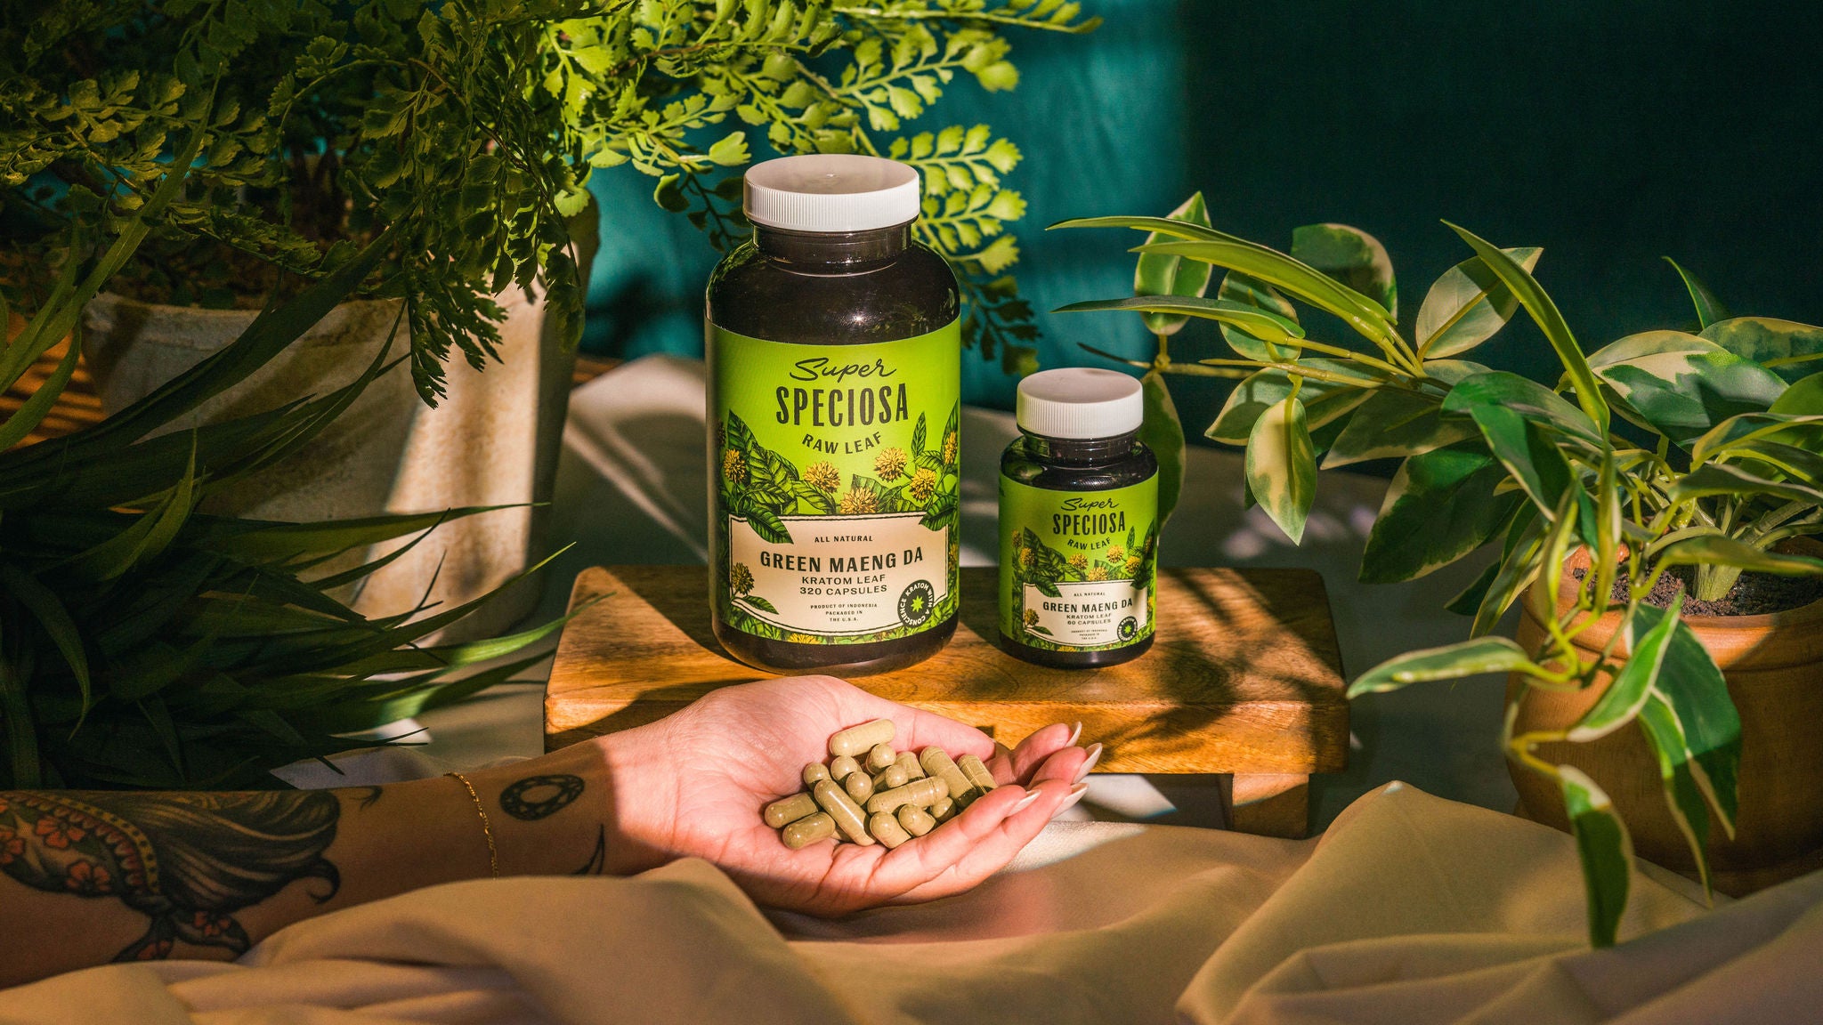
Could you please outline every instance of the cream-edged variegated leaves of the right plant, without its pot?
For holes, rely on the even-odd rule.
[[[1500,737],[1509,759],[1559,784],[1588,883],[1590,939],[1615,939],[1632,846],[1601,784],[1544,761],[1540,744],[1637,726],[1706,883],[1710,815],[1734,835],[1741,720],[1683,618],[1683,595],[1670,607],[1646,596],[1674,567],[1690,567],[1694,595],[1706,600],[1726,595],[1743,569],[1823,575],[1823,560],[1776,549],[1823,533],[1823,328],[1726,317],[1679,266],[1699,334],[1643,332],[1584,354],[1531,275],[1537,248],[1500,248],[1451,224],[1475,255],[1431,286],[1407,336],[1391,261],[1365,232],[1300,228],[1285,254],[1218,232],[1200,213],[1194,202],[1170,217],[1056,226],[1148,232],[1136,248],[1143,261],[1176,257],[1225,272],[1214,299],[1201,286],[1159,288],[1141,268],[1141,295],[1063,310],[1218,321],[1232,354],[1174,363],[1159,334],[1152,361],[1127,363],[1159,381],[1172,372],[1240,378],[1207,434],[1247,447],[1247,491],[1294,542],[1318,458],[1325,469],[1404,460],[1367,538],[1362,580],[1411,580],[1499,544],[1480,578],[1447,606],[1473,616],[1469,640],[1376,666],[1349,695],[1484,673],[1519,673],[1540,689],[1612,678],[1579,722],[1550,733],[1515,733],[1511,713],[1531,688],[1522,689]],[[1196,285],[1174,270],[1178,279]],[[1296,303],[1338,317],[1364,341],[1309,337]],[[1466,359],[1520,306],[1562,365],[1551,385]],[[1588,549],[1593,582],[1568,609],[1537,609],[1548,629],[1542,646],[1491,637],[1533,582],[1559,595],[1575,549]],[[1586,657],[1573,640],[1604,613],[1621,616],[1622,644]]]

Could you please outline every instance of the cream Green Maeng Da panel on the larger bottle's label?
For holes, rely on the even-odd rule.
[[[789,542],[773,544],[727,518],[729,576],[751,587],[735,604],[757,620],[831,637],[919,627],[950,595],[950,527],[922,512],[780,516]]]

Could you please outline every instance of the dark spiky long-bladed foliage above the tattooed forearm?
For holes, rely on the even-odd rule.
[[[208,106],[191,111],[179,159],[148,179],[148,201],[118,219],[104,248],[60,254],[49,297],[0,348],[0,387],[64,337],[142,244],[184,190],[188,175],[173,168],[191,166],[211,122]],[[93,221],[78,239],[95,237]],[[0,421],[9,449],[0,450],[0,786],[277,786],[266,770],[365,746],[343,735],[507,678],[523,662],[458,673],[556,627],[416,647],[474,606],[368,620],[339,600],[397,553],[341,573],[324,569],[330,560],[479,509],[339,523],[197,512],[211,492],[306,445],[386,370],[392,347],[332,394],[191,430],[171,430],[173,421],[295,341],[394,244],[381,233],[100,425],[9,449],[44,419],[73,356]],[[0,323],[7,317],[0,301]]]

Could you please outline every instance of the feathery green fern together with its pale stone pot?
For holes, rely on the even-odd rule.
[[[374,573],[355,598],[366,615],[427,593],[463,604],[538,558],[536,503],[556,467],[598,170],[651,175],[658,204],[726,244],[742,230],[735,171],[755,135],[780,153],[904,159],[926,182],[922,241],[963,272],[968,337],[1008,367],[1030,363],[1030,312],[1004,275],[1017,248],[1003,226],[1023,213],[1004,175],[1019,150],[986,126],[904,126],[959,75],[1014,88],[1001,29],[1096,24],[1057,0],[113,0],[95,15],[0,13],[11,55],[0,217],[22,239],[0,257],[9,295],[20,308],[46,301],[53,261],[82,248],[77,226],[142,206],[201,108],[211,120],[197,173],[84,312],[82,345],[109,412],[230,345],[272,294],[324,279],[396,228],[339,308],[168,425],[337,388],[403,310],[408,374],[383,376],[312,447],[208,503],[292,520],[510,507],[452,523]],[[447,367],[452,354],[463,359]],[[500,629],[534,596],[521,589],[467,629]]]

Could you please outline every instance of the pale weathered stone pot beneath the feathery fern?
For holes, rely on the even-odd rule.
[[[592,204],[591,204],[592,213]],[[592,217],[580,219],[583,268],[594,254]],[[357,584],[345,600],[365,616],[448,609],[510,580],[545,554],[547,507],[576,365],[545,325],[543,303],[518,288],[498,297],[500,363],[478,372],[454,354],[448,396],[430,409],[397,365],[306,449],[211,496],[206,512],[255,520],[345,520],[459,505],[518,505],[439,525],[410,553]],[[171,429],[213,423],[321,396],[359,376],[386,339],[397,299],[350,301],[241,385]],[[84,354],[102,409],[118,412],[233,341],[253,310],[199,310],[98,295],[84,310]],[[405,328],[392,354],[403,356]],[[401,542],[345,556],[352,567]],[[538,604],[538,580],[500,595],[436,635],[470,640],[503,633]]]

